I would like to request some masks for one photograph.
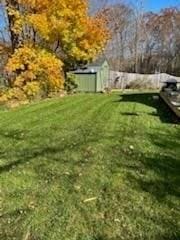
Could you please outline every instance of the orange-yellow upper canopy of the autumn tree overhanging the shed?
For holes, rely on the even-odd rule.
[[[106,23],[88,16],[87,0],[19,0],[26,9],[26,22],[46,41],[61,42],[66,58],[91,61],[108,40]]]

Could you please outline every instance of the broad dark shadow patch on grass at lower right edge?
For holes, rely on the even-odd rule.
[[[160,202],[163,202],[167,196],[179,198],[179,161],[168,155],[144,156],[143,158],[141,168],[133,169],[133,171],[131,169],[127,175],[131,185],[150,193]],[[129,166],[126,165],[126,167]]]

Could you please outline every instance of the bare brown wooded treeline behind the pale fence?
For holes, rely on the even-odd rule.
[[[106,55],[113,70],[180,75],[178,7],[153,13],[144,10],[142,1],[136,6],[120,1],[106,4],[102,14],[112,34]]]

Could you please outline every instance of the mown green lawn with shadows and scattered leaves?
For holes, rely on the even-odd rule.
[[[179,240],[180,125],[152,93],[0,110],[1,240]]]

